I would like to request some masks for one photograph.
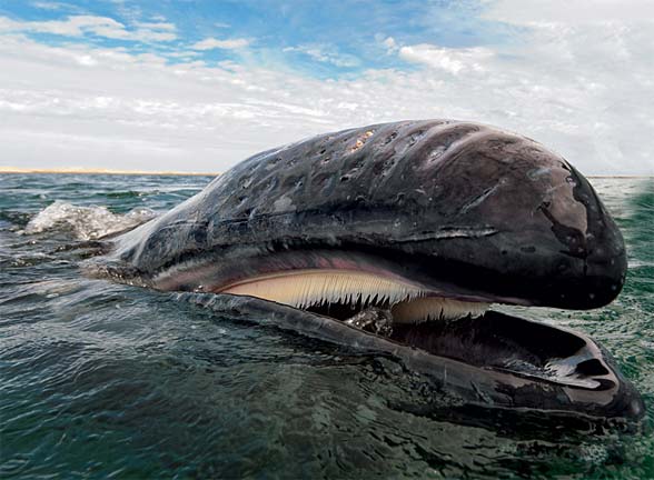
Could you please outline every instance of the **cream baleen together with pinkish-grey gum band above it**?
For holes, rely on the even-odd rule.
[[[532,304],[518,297],[462,287],[434,274],[443,269],[425,268],[425,262],[361,248],[265,249],[235,262],[236,267],[212,257],[178,263],[156,276],[152,286],[256,297],[344,321],[368,310],[384,310],[393,324],[477,318],[492,303]]]

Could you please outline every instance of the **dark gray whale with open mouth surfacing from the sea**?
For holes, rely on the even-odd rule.
[[[487,126],[383,123],[258,153],[113,239],[91,269],[393,354],[465,402],[644,414],[588,337],[485,310],[598,308],[626,274],[621,232],[588,181]],[[347,323],[368,307],[397,320],[390,333]]]

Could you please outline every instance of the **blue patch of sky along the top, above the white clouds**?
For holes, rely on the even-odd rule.
[[[32,1],[0,7],[22,30],[48,44],[81,42],[156,53],[168,62],[221,61],[293,70],[303,76],[341,78],[368,69],[410,71],[414,63],[394,54],[406,44],[446,48],[512,42],[515,27],[482,18],[476,1]],[[83,17],[123,26],[91,24],[77,34],[43,22]],[[101,23],[101,22],[100,22]],[[76,32],[73,32],[76,33]],[[393,39],[393,40],[389,40]]]

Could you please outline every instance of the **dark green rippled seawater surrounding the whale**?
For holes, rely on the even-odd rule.
[[[0,174],[0,478],[654,478],[652,179],[592,180],[628,248],[614,303],[516,309],[642,392],[642,428],[581,432],[420,413],[434,392],[393,359],[81,274],[210,180]]]

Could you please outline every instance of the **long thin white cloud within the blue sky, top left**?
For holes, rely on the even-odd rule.
[[[63,37],[83,37],[93,34],[117,40],[131,41],[169,41],[177,36],[171,23],[147,23],[135,30],[128,30],[122,23],[97,16],[71,16],[66,20],[16,21],[0,17],[0,32],[50,33]]]

